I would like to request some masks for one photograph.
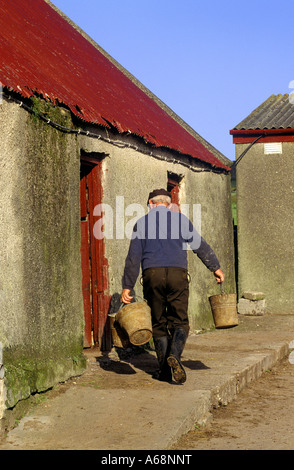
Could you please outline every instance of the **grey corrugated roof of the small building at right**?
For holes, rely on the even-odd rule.
[[[294,100],[288,93],[271,95],[233,130],[250,129],[294,129]]]

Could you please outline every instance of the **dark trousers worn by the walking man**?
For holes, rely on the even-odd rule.
[[[153,337],[173,334],[176,327],[189,332],[188,273],[183,268],[148,268],[143,272],[143,292],[152,316]]]

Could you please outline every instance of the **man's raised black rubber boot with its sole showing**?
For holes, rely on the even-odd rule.
[[[175,328],[170,353],[167,358],[167,363],[172,369],[173,379],[180,384],[186,382],[186,372],[181,363],[181,354],[184,350],[187,336],[187,331],[184,328]]]

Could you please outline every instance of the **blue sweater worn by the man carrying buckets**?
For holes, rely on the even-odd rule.
[[[187,269],[187,249],[191,249],[210,271],[219,261],[192,222],[182,213],[157,206],[134,226],[122,280],[123,289],[132,289],[142,271],[155,267]]]

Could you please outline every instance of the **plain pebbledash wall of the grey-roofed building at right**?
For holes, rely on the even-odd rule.
[[[236,159],[249,145],[236,144]],[[256,142],[236,168],[239,297],[263,292],[268,313],[292,314],[294,144],[265,145]]]

